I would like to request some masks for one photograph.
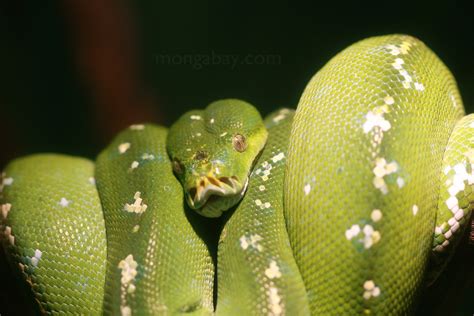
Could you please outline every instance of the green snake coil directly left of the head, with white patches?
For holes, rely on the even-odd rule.
[[[107,229],[107,314],[213,311],[214,266],[195,229],[205,222],[184,208],[166,136],[162,127],[131,126],[97,159]]]

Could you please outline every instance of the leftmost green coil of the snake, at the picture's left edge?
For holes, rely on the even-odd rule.
[[[90,160],[41,154],[0,178],[0,238],[42,313],[100,315],[105,223]]]

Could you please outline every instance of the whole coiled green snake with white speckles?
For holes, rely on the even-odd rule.
[[[13,160],[0,236],[42,314],[406,315],[468,226],[473,145],[435,53],[371,37],[296,110],[223,99]]]

